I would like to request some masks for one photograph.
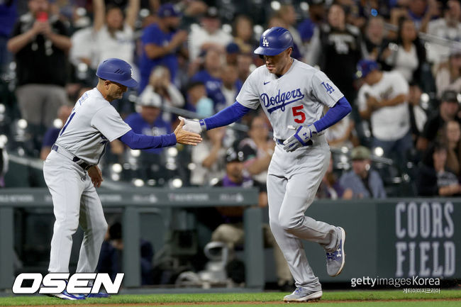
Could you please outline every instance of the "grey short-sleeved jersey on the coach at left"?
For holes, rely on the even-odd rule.
[[[101,92],[91,89],[75,104],[56,144],[88,164],[97,164],[106,143],[131,130]]]

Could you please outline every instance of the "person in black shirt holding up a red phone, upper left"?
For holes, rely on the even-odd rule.
[[[7,44],[16,61],[21,116],[39,138],[38,150],[40,135],[67,102],[66,62],[72,45],[65,24],[49,12],[48,0],[29,0],[28,13],[18,19]]]

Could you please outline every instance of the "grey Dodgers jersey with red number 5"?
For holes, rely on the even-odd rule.
[[[282,77],[265,65],[248,76],[237,96],[239,104],[256,109],[261,105],[269,118],[274,137],[285,140],[294,131],[288,125],[311,125],[323,116],[323,106],[332,107],[343,93],[326,74],[298,60]]]

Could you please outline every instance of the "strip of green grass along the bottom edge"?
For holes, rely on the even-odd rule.
[[[0,306],[27,306],[27,305],[77,305],[77,304],[160,304],[160,303],[213,303],[213,302],[261,302],[264,306],[275,304],[265,303],[282,301],[284,293],[265,292],[248,294],[145,294],[145,295],[114,295],[111,298],[90,298],[84,301],[62,301],[48,296],[7,296],[0,297]],[[422,301],[396,301],[384,302],[383,300],[422,300]],[[425,299],[438,300],[423,301]],[[341,306],[460,306],[460,301],[443,301],[444,299],[458,299],[461,301],[461,290],[442,290],[440,294],[404,294],[402,290],[393,291],[326,291],[323,292],[322,301],[362,301],[341,303]],[[384,304],[384,305],[383,305]],[[319,306],[338,305],[334,302],[319,303]],[[206,305],[200,305],[204,307]],[[234,306],[229,304],[226,306]],[[235,306],[244,306],[235,304]],[[252,305],[254,306],[254,305]]]

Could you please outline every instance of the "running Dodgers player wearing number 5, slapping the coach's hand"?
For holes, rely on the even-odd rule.
[[[201,121],[186,120],[184,129],[203,130],[238,121],[261,106],[277,143],[267,175],[270,227],[294,277],[296,290],[284,301],[312,301],[322,296],[321,284],[306,259],[301,240],[326,250],[327,271],[340,274],[345,263],[345,231],[315,221],[304,213],[311,205],[328,168],[330,148],[324,130],[350,113],[340,90],[318,69],[291,58],[293,39],[285,28],[262,33],[265,66],[248,77],[235,104]],[[323,116],[323,106],[330,109]]]

